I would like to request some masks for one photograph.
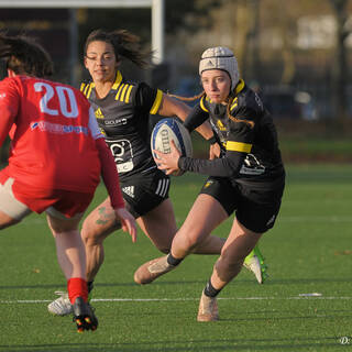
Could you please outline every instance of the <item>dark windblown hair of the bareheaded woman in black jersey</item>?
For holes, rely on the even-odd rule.
[[[139,45],[140,37],[127,30],[116,30],[106,32],[101,29],[92,31],[85,43],[85,56],[87,56],[88,45],[91,42],[105,42],[112,45],[117,61],[122,57],[130,59],[140,68],[150,66],[152,52],[142,52]]]

